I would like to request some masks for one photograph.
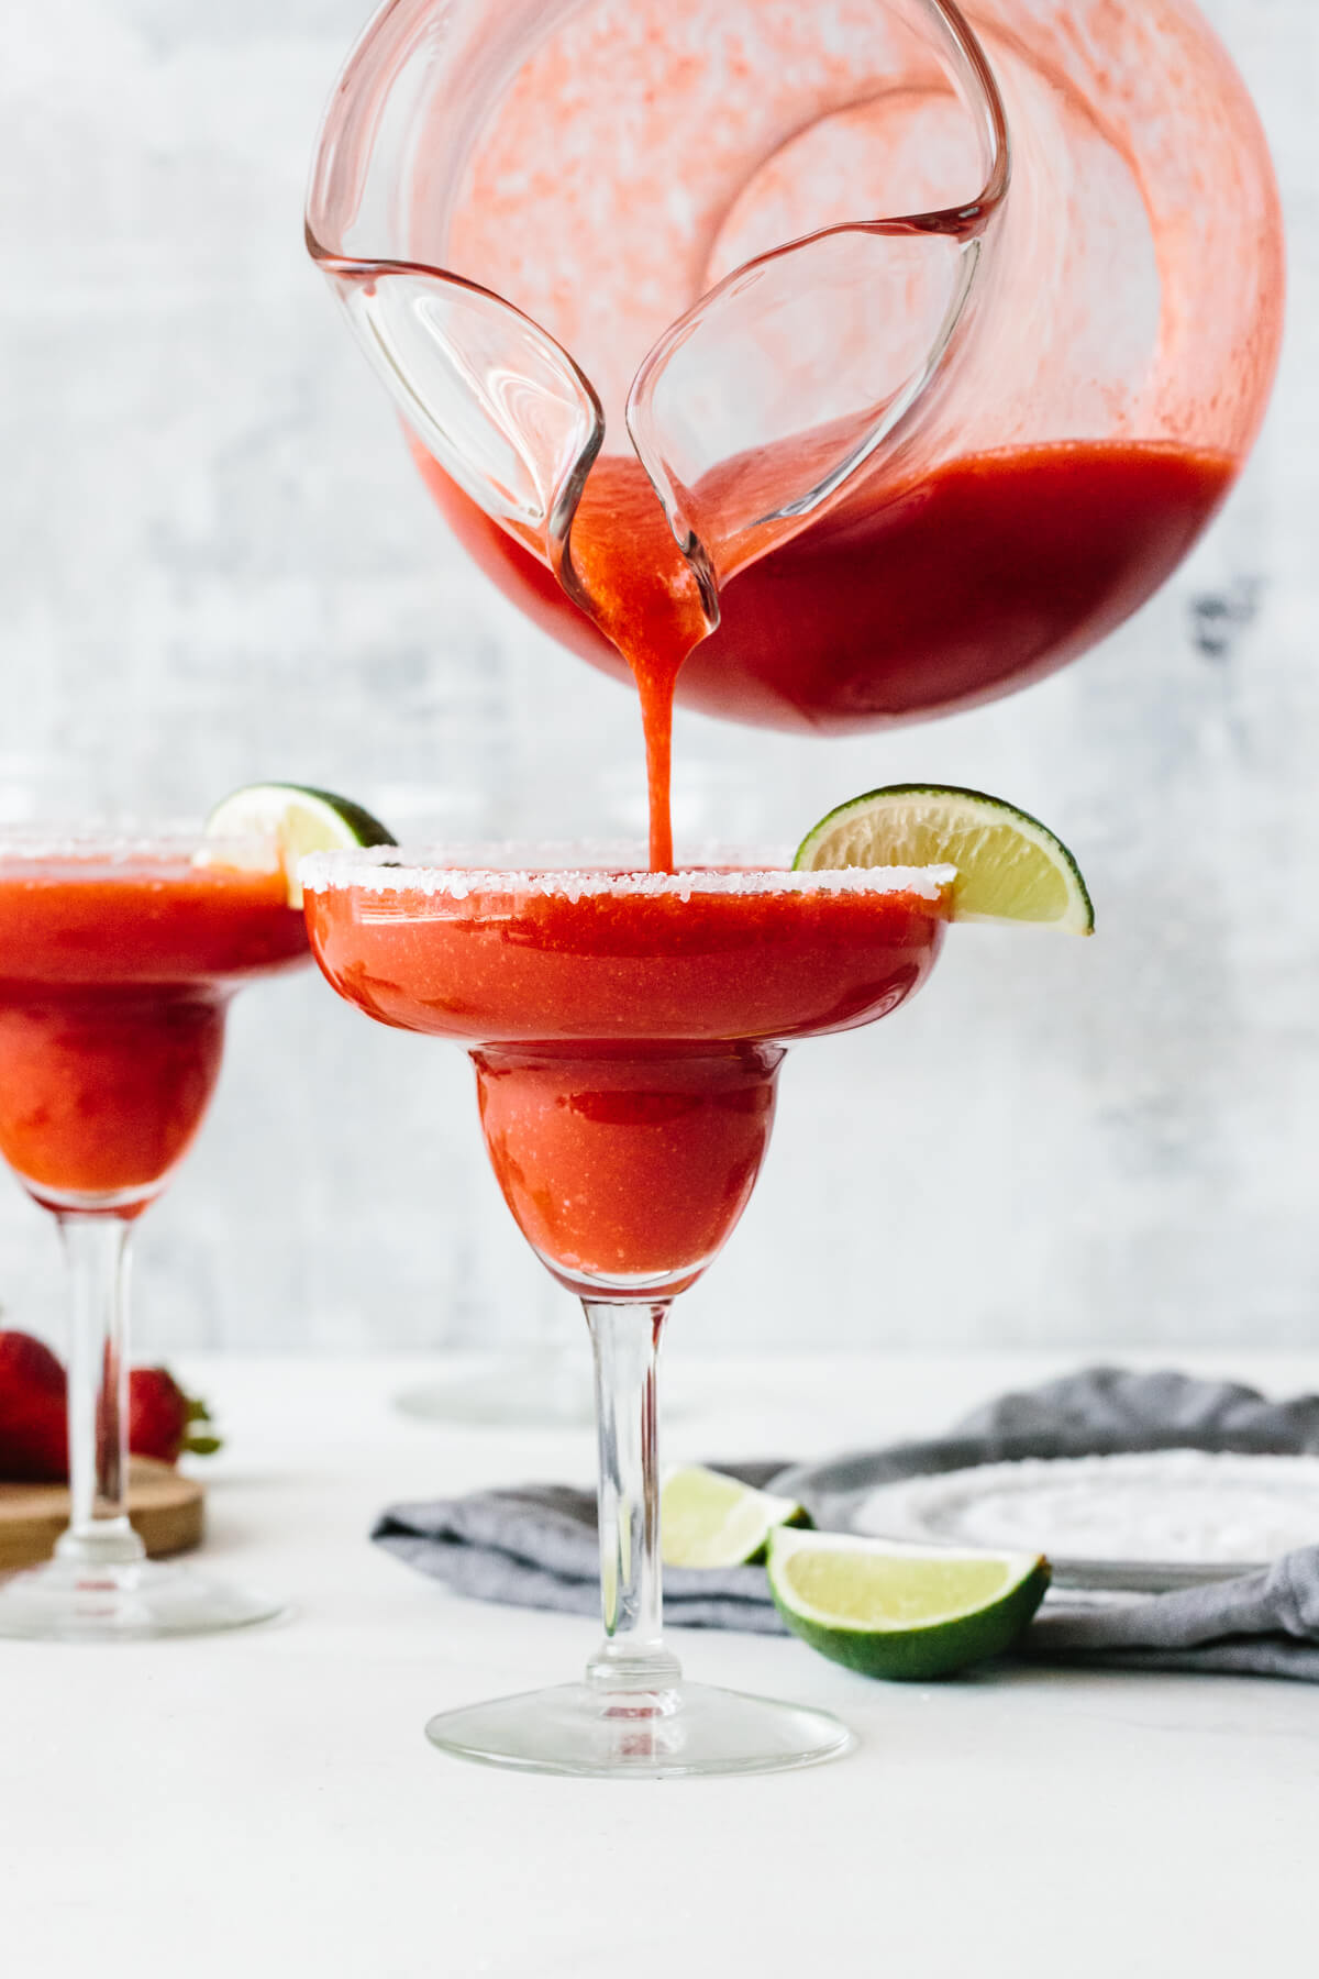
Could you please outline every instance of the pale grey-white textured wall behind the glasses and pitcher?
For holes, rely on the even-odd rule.
[[[1291,303],[1264,441],[1194,560],[989,710],[846,744],[678,734],[680,821],[720,835],[791,839],[898,778],[999,788],[1078,849],[1101,938],[961,930],[908,1013],[803,1049],[688,1338],[1319,1336],[1319,28],[1313,0],[1210,14],[1274,144]],[[8,24],[0,809],[42,786],[196,815],[283,776],[396,825],[639,823],[631,699],[465,564],[303,257],[360,22],[44,0]],[[239,1001],[140,1235],[152,1346],[512,1340],[564,1300],[484,1170],[463,1057],[312,976]],[[0,1300],[38,1326],[57,1304],[12,1185]]]

